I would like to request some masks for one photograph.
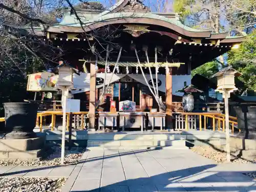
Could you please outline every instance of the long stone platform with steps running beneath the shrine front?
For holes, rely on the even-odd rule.
[[[44,130],[37,133],[45,136],[47,145],[61,144],[61,131]],[[69,144],[69,133],[66,132],[66,142]],[[104,147],[104,148],[152,148],[152,147],[174,147],[186,148],[186,146],[225,143],[223,132],[213,131],[72,131],[71,145],[82,147]]]

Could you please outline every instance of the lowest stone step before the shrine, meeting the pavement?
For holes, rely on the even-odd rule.
[[[87,146],[185,146],[185,140],[88,140]]]

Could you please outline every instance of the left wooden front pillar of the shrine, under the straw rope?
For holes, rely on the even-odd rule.
[[[96,70],[95,64],[90,66],[90,102],[89,102],[89,129],[95,130],[95,105],[96,105]]]

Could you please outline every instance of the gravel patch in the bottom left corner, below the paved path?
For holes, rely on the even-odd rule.
[[[0,191],[3,192],[42,192],[61,191],[66,179],[32,178],[32,177],[0,177]]]

